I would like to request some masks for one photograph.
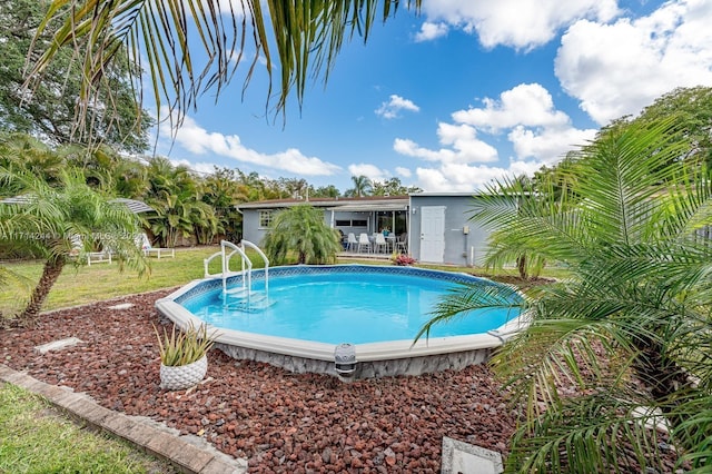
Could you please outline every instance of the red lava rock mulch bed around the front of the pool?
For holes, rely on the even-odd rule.
[[[343,383],[209,354],[196,388],[159,387],[154,308],[167,292],[42,315],[33,328],[0,329],[0,361],[16,371],[83,392],[105,407],[148,416],[204,436],[248,460],[249,471],[437,473],[443,436],[506,455],[515,414],[484,366],[417,377]],[[108,309],[132,303],[129,309]],[[34,346],[83,343],[40,355]]]

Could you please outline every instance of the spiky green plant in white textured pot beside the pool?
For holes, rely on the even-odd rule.
[[[208,336],[207,325],[170,334],[164,328],[162,337],[154,326],[160,352],[160,387],[169,391],[189,388],[202,381],[208,372],[207,353],[212,347],[215,335]]]

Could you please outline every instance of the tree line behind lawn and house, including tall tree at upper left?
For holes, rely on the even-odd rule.
[[[71,168],[103,195],[145,201],[156,213],[142,216],[144,227],[158,245],[237,240],[241,216],[235,205],[240,203],[419,190],[395,177],[373,181],[355,176],[354,187],[342,194],[334,185],[315,187],[301,178],[268,179],[226,167],[198,174],[166,157],[146,156],[155,120],[140,107],[140,65],[130,60],[125,47],[116,48],[102,68],[95,90],[101,99],[85,103],[83,120],[77,119],[82,69],[71,48],[56,51],[41,80],[28,81],[28,60],[37,60],[32,47],[51,48],[51,31],[59,24],[55,20],[40,28],[49,6],[44,0],[0,4],[0,166],[28,170],[50,185],[59,181],[62,169]],[[67,13],[67,8],[59,12]],[[0,189],[0,195],[8,197],[8,189]]]

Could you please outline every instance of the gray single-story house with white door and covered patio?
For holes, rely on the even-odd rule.
[[[404,240],[418,261],[473,266],[482,263],[488,233],[468,221],[476,196],[472,192],[418,192],[411,196],[314,198],[308,204],[324,210],[324,221],[345,236],[373,235],[387,229]],[[274,214],[306,204],[300,199],[245,203],[243,236],[260,244]]]

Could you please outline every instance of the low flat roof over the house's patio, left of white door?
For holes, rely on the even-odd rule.
[[[365,196],[359,198],[270,199],[237,205],[238,209],[281,209],[303,204],[334,210],[399,210],[406,209],[408,196]]]

